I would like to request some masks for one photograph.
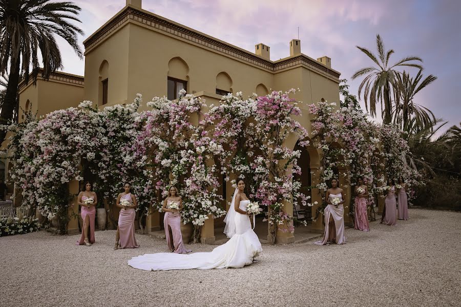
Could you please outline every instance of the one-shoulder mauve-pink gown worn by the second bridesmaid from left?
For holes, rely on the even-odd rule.
[[[128,202],[133,203],[131,193],[121,196],[120,201],[121,200],[127,200]],[[135,216],[136,211],[133,208],[120,209],[120,215],[118,216],[118,233],[120,235],[119,248],[139,247],[135,238]]]

